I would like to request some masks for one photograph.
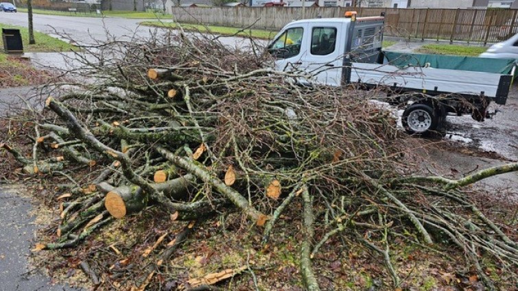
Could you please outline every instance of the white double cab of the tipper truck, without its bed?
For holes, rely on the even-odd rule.
[[[310,73],[316,83],[340,86],[349,55],[354,62],[377,62],[383,17],[316,18],[286,25],[268,49],[278,71]]]

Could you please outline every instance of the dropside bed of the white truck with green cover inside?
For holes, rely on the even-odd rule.
[[[483,96],[505,104],[515,73],[513,60],[495,63],[480,58],[438,55],[430,55],[432,59],[428,60],[427,55],[421,54],[382,53],[386,55],[378,59],[383,60],[383,64],[353,62],[350,81],[432,95]],[[477,62],[478,67],[473,65]]]

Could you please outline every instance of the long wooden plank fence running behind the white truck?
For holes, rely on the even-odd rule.
[[[305,18],[342,17],[351,8],[306,8]],[[498,42],[518,32],[518,10],[510,9],[395,9],[356,8],[358,16],[386,16],[387,36],[467,42]],[[302,18],[301,8],[179,8],[173,7],[180,23],[204,23],[232,27],[278,30]]]

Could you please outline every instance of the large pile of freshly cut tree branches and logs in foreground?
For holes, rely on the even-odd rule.
[[[84,49],[94,58],[82,58],[75,72],[83,81],[56,84],[64,92],[34,114],[30,155],[1,144],[25,173],[71,181],[56,193],[67,199],[56,240],[37,249],[77,246],[149,205],[174,220],[239,212],[267,243],[283,212],[301,201],[307,290],[320,290],[311,260],[333,236],[379,255],[393,287],[401,278],[389,242],[398,233],[456,247],[491,289],[481,257],[516,270],[513,226],[486,218],[460,188],[518,164],[458,181],[408,175],[416,171],[406,162],[412,149],[392,114],[368,101],[377,93],[299,86],[302,73],[273,71],[256,46],[182,33]],[[78,166],[89,173],[77,177]],[[161,249],[145,284],[189,243],[188,233]]]

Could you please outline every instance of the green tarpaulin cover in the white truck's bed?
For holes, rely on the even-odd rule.
[[[457,55],[427,55],[424,53],[397,53],[384,51],[385,62],[400,68],[429,66],[449,70],[499,73],[508,75],[516,64],[514,59],[487,59]],[[427,65],[429,63],[429,65]]]

